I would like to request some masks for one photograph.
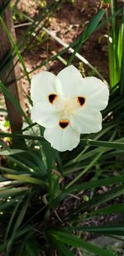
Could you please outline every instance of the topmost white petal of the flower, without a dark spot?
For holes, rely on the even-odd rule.
[[[74,65],[69,65],[64,70],[61,70],[57,78],[61,81],[65,96],[73,95],[74,91],[76,92],[76,85],[83,80],[82,75]]]

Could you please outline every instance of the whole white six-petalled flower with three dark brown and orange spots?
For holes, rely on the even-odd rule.
[[[31,80],[31,119],[45,127],[44,137],[57,150],[77,147],[80,133],[102,129],[100,110],[107,106],[107,85],[95,77],[83,78],[73,65],[55,76],[41,71]]]

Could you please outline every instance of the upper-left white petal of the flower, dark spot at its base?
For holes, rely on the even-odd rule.
[[[41,71],[34,75],[31,80],[31,100],[33,104],[41,102],[42,99],[48,100],[49,94],[60,92],[60,81],[56,76],[47,71]]]

